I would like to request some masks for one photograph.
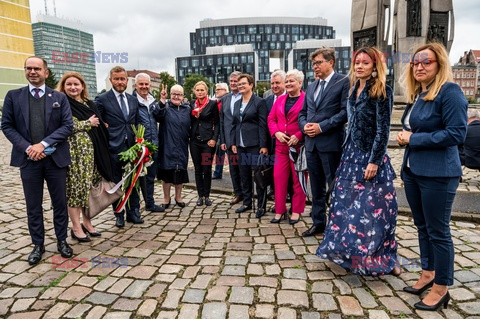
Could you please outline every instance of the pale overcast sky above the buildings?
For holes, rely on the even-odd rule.
[[[121,65],[128,70],[167,71],[175,75],[175,58],[190,54],[190,32],[199,28],[204,19],[322,17],[334,28],[336,38],[342,39],[342,45],[350,45],[352,0],[30,0],[32,22],[37,21],[38,14],[45,14],[45,1],[49,14],[53,15],[55,3],[57,17],[80,22],[82,29],[92,33],[95,51],[127,52],[128,62]],[[480,2],[453,0],[453,6],[452,64],[464,51],[480,49]],[[105,88],[112,66],[96,64],[99,91]]]

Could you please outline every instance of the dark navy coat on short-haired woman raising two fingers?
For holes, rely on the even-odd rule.
[[[160,122],[158,165],[160,169],[187,169],[190,138],[190,105],[158,103],[154,116]]]

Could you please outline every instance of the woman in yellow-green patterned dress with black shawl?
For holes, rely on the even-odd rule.
[[[67,95],[73,116],[73,133],[68,138],[72,164],[67,170],[68,215],[72,221],[71,236],[80,242],[90,241],[95,231],[86,212],[92,185],[101,177],[112,180],[108,155],[108,132],[98,117],[95,104],[88,99],[83,76],[67,72],[58,83],[57,90]],[[80,223],[83,215],[83,224]],[[88,234],[88,235],[87,235]]]

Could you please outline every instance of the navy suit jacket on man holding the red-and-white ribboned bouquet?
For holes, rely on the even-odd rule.
[[[132,125],[137,125],[138,120],[138,99],[125,93],[128,101],[128,119],[125,120],[122,109],[118,103],[113,90],[98,95],[95,103],[103,121],[108,123],[108,133],[110,135],[109,146],[113,154],[125,150],[125,135],[128,139],[128,146],[135,144],[135,134]]]

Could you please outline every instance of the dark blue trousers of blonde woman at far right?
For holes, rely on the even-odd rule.
[[[453,285],[453,241],[450,217],[458,177],[426,177],[402,171],[405,195],[418,229],[422,269],[435,271],[435,283]]]

